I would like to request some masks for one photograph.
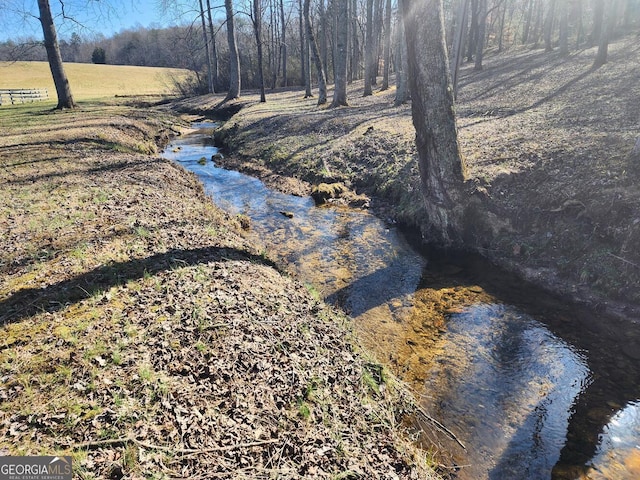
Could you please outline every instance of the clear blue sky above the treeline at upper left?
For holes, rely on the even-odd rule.
[[[175,13],[161,11],[158,0],[65,0],[65,13],[75,21],[62,19],[59,0],[50,3],[60,38],[70,38],[74,32],[83,37],[96,34],[109,37],[125,29],[164,27],[179,22]],[[36,0],[0,0],[0,4],[4,7],[0,7],[0,41],[42,38]],[[182,23],[190,20],[185,17]]]

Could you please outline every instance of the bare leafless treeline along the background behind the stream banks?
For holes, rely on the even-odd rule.
[[[260,2],[261,6],[260,38],[266,87],[304,85],[305,77],[309,71],[315,72],[315,68],[306,54],[309,46],[305,43],[308,42],[305,29],[301,28],[302,1],[245,0],[237,4],[234,15],[242,87],[259,87],[255,24],[244,13],[256,11],[252,7],[254,2]],[[334,77],[336,18],[342,2],[348,3],[348,80],[364,78],[365,63],[371,61],[371,81],[375,84],[383,65],[389,64],[388,68],[394,71],[403,61],[400,43],[403,29],[398,15],[402,1],[312,0],[312,28],[329,82]],[[640,22],[640,0],[445,0],[444,5],[449,48],[453,49],[458,38],[462,42],[456,47],[458,64],[475,62],[478,69],[482,68],[483,52],[521,45],[568,52],[597,46],[605,35],[606,40],[613,40],[638,30]],[[196,12],[201,14],[190,26],[138,28],[110,38],[73,34],[60,40],[63,61],[186,68],[197,74],[204,91],[207,72],[213,71],[217,74],[215,89],[224,90],[229,82],[226,25],[218,21],[213,28],[208,26],[207,35],[203,35],[201,16],[205,16],[206,9],[199,10],[197,6],[194,2]],[[373,53],[368,53],[367,48],[373,49]],[[451,56],[455,57],[453,52]],[[370,58],[373,60],[367,60]],[[0,43],[0,60],[46,59],[39,39]],[[315,79],[314,73],[311,81]]]

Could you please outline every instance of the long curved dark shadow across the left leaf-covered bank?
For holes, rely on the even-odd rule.
[[[0,325],[18,322],[41,312],[56,312],[72,303],[90,298],[129,280],[159,272],[207,262],[247,260],[274,268],[262,256],[235,248],[206,247],[193,250],[169,250],[150,257],[115,262],[44,288],[26,288],[0,301]]]

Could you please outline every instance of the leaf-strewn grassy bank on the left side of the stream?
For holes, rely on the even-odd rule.
[[[0,452],[78,478],[432,478],[348,320],[149,155],[176,122],[0,110]]]

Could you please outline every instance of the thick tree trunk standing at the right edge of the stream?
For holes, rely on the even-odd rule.
[[[411,86],[411,112],[428,241],[462,243],[465,165],[460,155],[442,0],[406,0],[405,28]]]

